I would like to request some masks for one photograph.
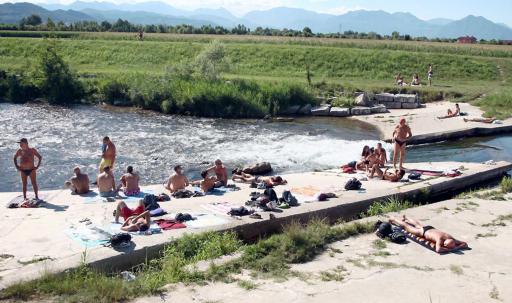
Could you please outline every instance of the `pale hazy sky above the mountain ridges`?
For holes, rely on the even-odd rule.
[[[24,2],[61,2],[74,0],[24,0]],[[91,0],[82,0],[91,1]],[[101,1],[101,0],[100,0]],[[145,2],[144,0],[110,2]],[[146,0],[147,1],[147,0]],[[512,26],[512,0],[157,0],[182,8],[225,7],[235,15],[242,15],[250,10],[268,9],[278,6],[298,7],[317,12],[342,14],[350,10],[384,10],[387,12],[410,12],[421,19],[450,18],[460,19],[467,15],[484,16],[495,22]],[[1,2],[12,2],[0,0]],[[22,2],[22,1],[16,1]]]

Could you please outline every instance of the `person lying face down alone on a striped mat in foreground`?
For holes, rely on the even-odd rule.
[[[450,252],[455,249],[467,248],[466,242],[459,241],[451,235],[435,229],[432,226],[423,226],[419,221],[407,218],[405,215],[402,219],[390,218],[389,223],[401,226],[405,231],[421,238],[428,240],[432,248],[438,253]]]

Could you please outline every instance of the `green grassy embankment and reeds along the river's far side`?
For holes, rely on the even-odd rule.
[[[425,102],[474,102],[487,115],[512,115],[509,46],[305,37],[145,37],[137,41],[133,34],[76,33],[57,40],[0,38],[0,69],[6,71],[0,80],[0,98],[50,101],[41,86],[41,56],[34,54],[53,44],[61,62],[70,67],[62,75],[78,81],[68,84],[81,84],[74,97],[91,103],[260,118],[277,115],[289,105],[317,104],[319,95],[338,95],[336,105],[351,106],[355,91],[387,91],[419,93]],[[393,86],[397,72],[422,75],[428,63],[435,67],[433,87]]]

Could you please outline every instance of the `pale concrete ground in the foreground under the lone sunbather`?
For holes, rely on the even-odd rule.
[[[332,243],[314,260],[292,265],[296,276],[283,282],[244,272],[236,278],[251,281],[254,289],[236,282],[175,284],[159,296],[134,302],[512,302],[512,222],[492,224],[499,216],[512,215],[510,200],[454,199],[391,215],[402,214],[444,230],[472,249],[438,255],[413,242],[376,247],[377,237],[369,234]]]

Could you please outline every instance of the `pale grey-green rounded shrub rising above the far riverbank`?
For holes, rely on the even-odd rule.
[[[199,76],[208,80],[218,80],[220,74],[228,71],[229,61],[226,58],[226,48],[218,40],[213,40],[196,57],[195,70]]]

